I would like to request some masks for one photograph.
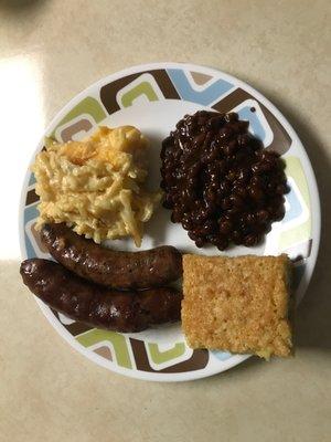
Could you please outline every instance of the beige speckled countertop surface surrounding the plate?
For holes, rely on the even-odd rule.
[[[327,0],[0,0],[1,442],[330,440],[330,12]],[[295,358],[192,382],[125,378],[72,349],[20,281],[20,189],[45,126],[98,78],[156,61],[246,81],[306,146],[322,238]]]

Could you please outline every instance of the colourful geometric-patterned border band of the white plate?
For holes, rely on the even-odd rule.
[[[134,66],[109,75],[73,98],[52,120],[45,134],[66,141],[90,130],[104,118],[139,101],[181,99],[220,112],[236,110],[248,119],[266,148],[285,155],[291,191],[282,222],[268,235],[264,253],[300,255],[297,299],[305,294],[320,241],[320,201],[308,156],[280,112],[249,85],[210,67],[182,63]],[[36,152],[42,148],[40,143]],[[281,150],[279,150],[281,146]],[[47,256],[34,231],[38,197],[28,171],[20,206],[20,244],[23,257]],[[276,245],[275,245],[276,244]],[[145,380],[181,381],[212,376],[244,361],[249,355],[192,351],[185,343],[170,346],[110,332],[90,329],[58,315],[36,298],[53,327],[74,348],[113,371]]]

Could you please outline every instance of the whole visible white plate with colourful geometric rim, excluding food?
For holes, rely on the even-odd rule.
[[[44,135],[58,141],[79,139],[98,125],[137,126],[152,141],[149,185],[160,182],[161,140],[184,114],[199,109],[235,110],[249,120],[252,131],[265,147],[284,155],[291,191],[286,196],[286,215],[273,224],[266,241],[253,249],[226,251],[229,255],[280,254],[301,256],[296,266],[296,296],[300,301],[311,278],[320,241],[320,202],[316,179],[297,134],[261,94],[247,84],[210,67],[156,63],[109,75],[73,98],[52,120]],[[43,138],[36,149],[43,147]],[[33,161],[33,159],[32,159]],[[47,257],[33,229],[38,211],[34,177],[28,170],[22,190],[20,241],[22,256]],[[118,249],[134,250],[131,241],[115,241]],[[221,254],[216,248],[196,249],[170,212],[160,208],[146,227],[142,249],[171,244],[180,250]],[[113,244],[114,245],[114,244]],[[56,314],[36,299],[53,327],[78,351],[109,370],[134,378],[180,381],[224,371],[249,355],[190,349],[179,325],[139,334],[92,329]]]

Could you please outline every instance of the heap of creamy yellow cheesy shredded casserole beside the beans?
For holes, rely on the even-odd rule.
[[[41,200],[36,228],[66,222],[96,243],[130,235],[140,246],[143,223],[161,198],[143,188],[147,148],[132,126],[99,127],[82,141],[47,143],[32,166]]]

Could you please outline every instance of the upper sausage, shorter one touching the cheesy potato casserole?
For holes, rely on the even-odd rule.
[[[182,255],[170,245],[141,252],[113,251],[79,236],[64,223],[44,224],[41,241],[65,267],[106,286],[156,287],[182,275]]]

